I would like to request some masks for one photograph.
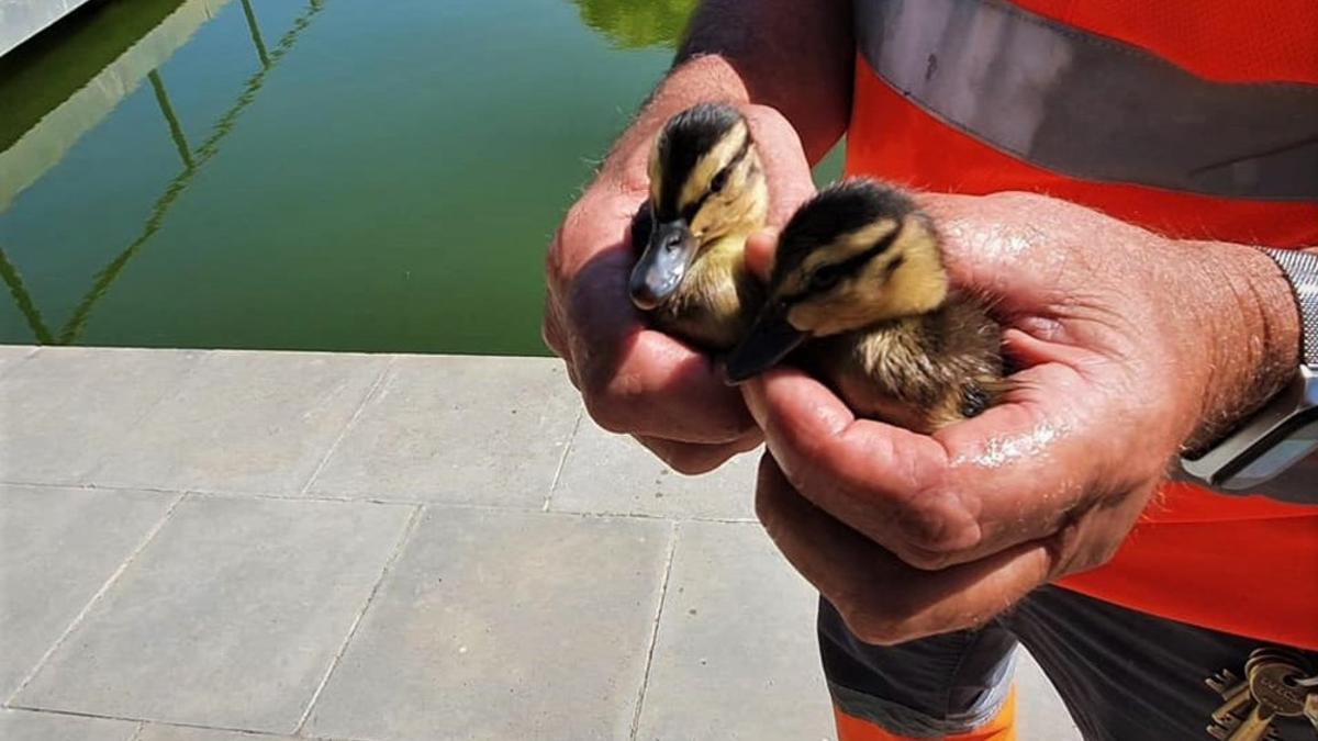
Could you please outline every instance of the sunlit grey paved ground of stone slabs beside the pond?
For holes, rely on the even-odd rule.
[[[0,738],[832,738],[754,458],[554,360],[0,347]]]

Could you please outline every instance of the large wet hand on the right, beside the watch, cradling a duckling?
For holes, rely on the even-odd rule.
[[[1294,302],[1252,249],[1157,237],[1039,195],[921,204],[953,282],[995,302],[1020,368],[1006,398],[924,436],[857,419],[789,368],[743,386],[774,459],[759,518],[875,643],[981,624],[1103,563],[1182,444],[1210,439],[1297,363]]]

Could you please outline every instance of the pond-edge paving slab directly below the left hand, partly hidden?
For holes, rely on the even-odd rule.
[[[583,417],[550,509],[754,519],[759,456],[757,450],[702,476],[683,476],[631,436],[601,430]]]

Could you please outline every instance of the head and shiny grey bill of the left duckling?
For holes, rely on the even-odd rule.
[[[768,189],[739,111],[706,103],[668,120],[650,150],[648,210],[650,236],[629,285],[642,310],[672,297],[705,248],[764,225]]]

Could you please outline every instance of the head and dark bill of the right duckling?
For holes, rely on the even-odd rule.
[[[745,381],[811,338],[927,314],[948,297],[948,274],[928,216],[900,191],[855,179],[821,191],[778,241],[768,299],[728,357]]]

